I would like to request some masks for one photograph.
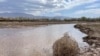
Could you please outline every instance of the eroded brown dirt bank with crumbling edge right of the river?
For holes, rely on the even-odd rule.
[[[87,34],[83,40],[90,45],[80,56],[100,56],[100,24],[77,24],[74,27]]]

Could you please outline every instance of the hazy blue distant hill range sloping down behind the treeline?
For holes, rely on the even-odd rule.
[[[25,13],[0,13],[0,17],[26,17],[26,18],[34,18],[34,19],[70,19],[69,17],[64,16],[54,16],[54,17],[48,17],[48,16],[34,16],[31,14],[25,14]]]

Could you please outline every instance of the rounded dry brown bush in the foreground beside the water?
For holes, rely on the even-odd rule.
[[[77,56],[78,44],[68,35],[57,40],[53,45],[53,56]]]

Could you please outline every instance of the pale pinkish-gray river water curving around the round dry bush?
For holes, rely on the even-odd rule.
[[[66,32],[82,46],[85,34],[73,26],[59,24],[0,29],[0,56],[52,56],[53,43]]]

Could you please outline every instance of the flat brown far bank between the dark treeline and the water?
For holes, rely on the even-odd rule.
[[[40,26],[40,25],[51,25],[51,24],[77,24],[77,23],[98,23],[98,22],[78,22],[78,21],[54,21],[54,22],[41,22],[41,21],[36,21],[36,22],[0,22],[0,28],[16,28],[16,27],[24,27],[24,26]]]

